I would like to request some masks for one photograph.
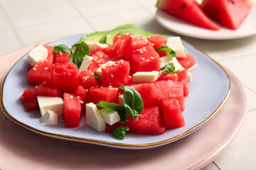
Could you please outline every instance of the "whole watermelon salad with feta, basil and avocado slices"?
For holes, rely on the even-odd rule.
[[[64,119],[66,128],[79,127],[85,116],[88,127],[120,140],[126,132],[161,135],[184,126],[195,57],[179,37],[134,30],[142,29],[119,26],[72,47],[36,45],[27,55],[34,88],[20,97],[25,111],[38,111],[41,125]]]

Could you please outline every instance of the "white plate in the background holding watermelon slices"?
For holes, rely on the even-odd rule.
[[[256,7],[253,6],[249,15],[242,23],[238,30],[230,30],[220,26],[220,30],[208,30],[194,26],[191,23],[182,21],[174,16],[165,13],[164,11],[156,11],[156,20],[164,26],[164,28],[193,38],[201,38],[208,40],[230,40],[237,38],[246,38],[256,34]]]

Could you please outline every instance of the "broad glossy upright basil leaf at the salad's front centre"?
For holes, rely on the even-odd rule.
[[[131,115],[132,118],[136,118],[142,113],[144,108],[142,97],[139,92],[131,86],[120,86],[119,89],[124,89],[123,100],[126,113]]]

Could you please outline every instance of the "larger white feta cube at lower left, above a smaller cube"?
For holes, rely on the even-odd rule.
[[[58,97],[38,96],[38,105],[43,116],[47,111],[63,115],[63,99]]]

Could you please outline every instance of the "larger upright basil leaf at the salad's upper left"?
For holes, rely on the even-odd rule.
[[[82,64],[82,60],[85,55],[89,55],[89,47],[85,42],[77,42],[71,47],[69,62],[73,62],[77,65],[78,69]]]

